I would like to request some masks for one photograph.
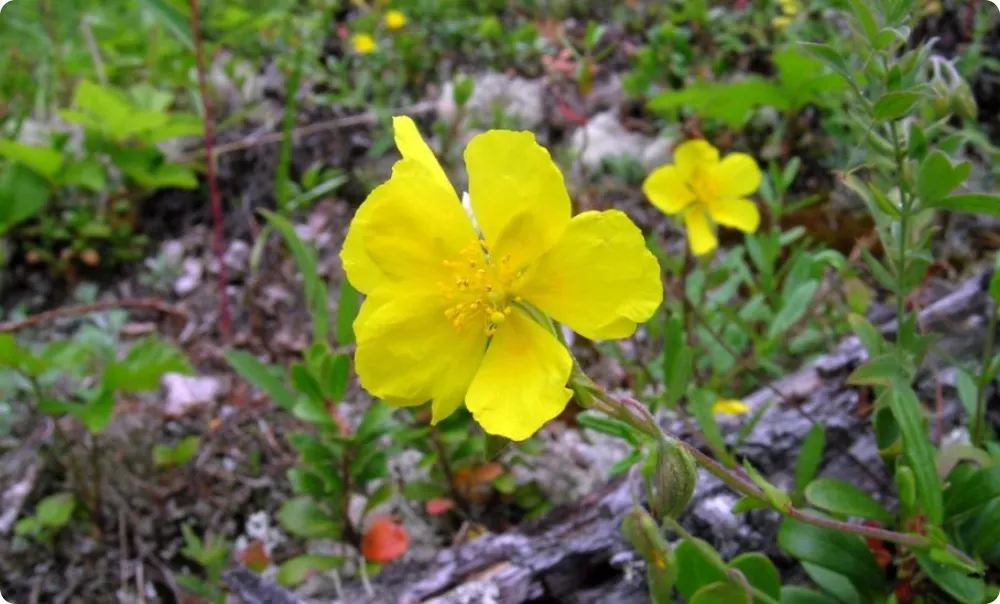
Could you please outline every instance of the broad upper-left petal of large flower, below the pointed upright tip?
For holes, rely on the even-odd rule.
[[[444,261],[477,240],[454,190],[410,170],[395,174],[361,204],[340,258],[351,284],[370,294],[389,281],[451,278]]]

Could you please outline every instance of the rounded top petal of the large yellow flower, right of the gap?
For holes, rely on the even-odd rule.
[[[569,225],[569,193],[549,152],[530,132],[490,130],[465,149],[476,221],[496,258],[523,265],[548,251]]]

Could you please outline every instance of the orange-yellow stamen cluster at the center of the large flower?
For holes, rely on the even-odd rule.
[[[524,270],[512,266],[509,254],[491,258],[483,241],[465,248],[456,259],[445,260],[444,265],[452,272],[451,280],[438,283],[449,303],[445,318],[457,332],[481,326],[492,336],[513,311],[511,301],[521,301],[511,295],[511,289]]]

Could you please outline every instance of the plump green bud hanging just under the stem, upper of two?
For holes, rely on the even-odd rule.
[[[650,505],[658,518],[676,518],[684,511],[698,483],[698,464],[674,440],[661,440],[647,460],[646,482]]]

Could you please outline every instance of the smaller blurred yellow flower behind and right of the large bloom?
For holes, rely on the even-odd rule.
[[[684,217],[691,251],[702,255],[719,243],[710,217],[745,233],[757,230],[760,212],[746,197],[757,190],[760,181],[760,168],[749,155],[731,153],[720,161],[718,149],[692,140],[678,146],[674,164],[654,170],[642,190],[663,212]]]

